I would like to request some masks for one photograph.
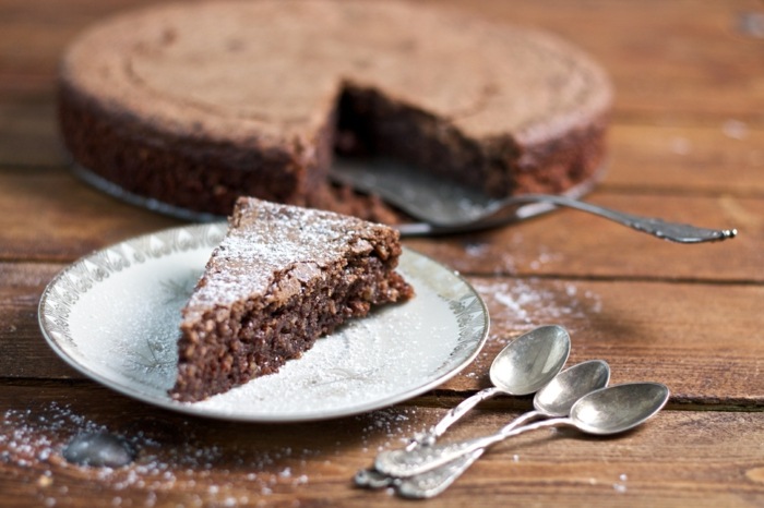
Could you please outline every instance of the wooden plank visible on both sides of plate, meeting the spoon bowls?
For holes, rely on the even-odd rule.
[[[4,378],[82,378],[60,361],[37,325],[39,295],[63,265],[0,264],[0,373]],[[464,394],[490,385],[499,350],[541,324],[572,336],[571,363],[600,358],[613,382],[667,384],[676,403],[764,408],[764,288],[751,285],[469,277],[492,320],[475,362],[440,387]],[[713,312],[709,310],[713,309]],[[19,362],[23,358],[26,361]],[[747,373],[747,375],[740,375]]]

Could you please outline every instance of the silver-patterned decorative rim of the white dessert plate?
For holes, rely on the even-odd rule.
[[[195,404],[177,402],[169,398],[169,396],[166,399],[158,398],[152,394],[136,389],[134,385],[118,383],[115,379],[110,379],[75,358],[72,348],[76,349],[76,338],[72,337],[71,330],[69,329],[69,319],[70,313],[83,294],[92,290],[95,285],[105,280],[111,274],[129,269],[133,263],[145,263],[152,258],[160,258],[172,255],[174,253],[182,253],[198,249],[208,247],[210,251],[212,251],[212,249],[219,243],[225,231],[226,223],[220,221],[168,228],[117,242],[84,255],[67,266],[46,286],[38,304],[38,323],[48,346],[59,358],[81,374],[132,399],[195,416],[242,422],[278,423],[318,421],[360,414],[416,397],[458,374],[475,360],[487,341],[490,327],[488,310],[471,285],[458,273],[445,267],[429,256],[404,246],[402,264],[404,259],[430,264],[438,269],[440,274],[453,278],[453,282],[461,286],[459,289],[465,295],[465,298],[458,301],[442,297],[447,301],[449,309],[454,313],[454,316],[457,319],[462,318],[465,320],[458,323],[459,329],[456,335],[458,340],[453,350],[449,353],[449,358],[444,360],[440,367],[433,370],[428,379],[422,379],[422,383],[415,388],[401,392],[393,392],[385,397],[374,398],[353,406],[351,408],[341,408],[336,411],[322,411],[319,413],[306,412],[305,414],[284,414],[278,412],[262,413],[259,415],[251,413],[236,414],[230,411],[199,408]],[[117,251],[118,247],[119,253]],[[440,292],[438,294],[440,295]],[[466,297],[470,299],[469,306],[462,310],[454,309],[454,306],[464,305]],[[461,312],[461,314],[457,316],[456,313],[458,312]],[[467,316],[465,317],[465,315]],[[466,337],[467,340],[465,340],[464,336],[467,328],[474,331],[470,331],[471,335]],[[277,376],[278,373],[273,375]]]

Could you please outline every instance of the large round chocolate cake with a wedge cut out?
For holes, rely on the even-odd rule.
[[[64,55],[68,150],[102,189],[227,215],[240,195],[347,211],[335,152],[492,196],[562,192],[602,164],[611,87],[546,33],[395,1],[178,3]]]

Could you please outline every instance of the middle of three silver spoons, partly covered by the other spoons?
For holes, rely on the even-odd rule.
[[[580,398],[606,387],[609,380],[610,367],[602,360],[573,365],[536,392],[533,411],[518,416],[506,427],[517,428],[537,418],[566,416]],[[449,488],[484,451],[486,448],[478,448],[431,471],[402,479],[395,483],[396,492],[403,497],[416,499],[434,497]]]

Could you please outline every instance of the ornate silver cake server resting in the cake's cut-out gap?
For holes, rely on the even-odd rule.
[[[421,222],[398,225],[402,235],[437,235],[477,231],[503,226],[553,209],[575,208],[604,217],[654,237],[679,243],[727,240],[735,229],[706,229],[667,222],[659,218],[640,217],[576,199],[586,188],[569,195],[522,194],[490,198],[480,192],[455,185],[442,178],[390,161],[353,164],[337,161],[330,178],[361,192],[374,193]],[[525,206],[523,206],[525,205]]]

